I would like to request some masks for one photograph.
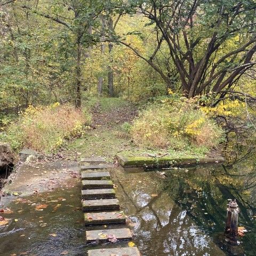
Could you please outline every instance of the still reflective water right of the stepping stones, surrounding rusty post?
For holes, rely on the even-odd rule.
[[[121,202],[127,215],[136,217],[135,239],[143,255],[256,255],[253,160],[172,169],[167,178],[154,171],[116,172]],[[229,198],[237,199],[239,226],[250,230],[238,247],[223,237]]]

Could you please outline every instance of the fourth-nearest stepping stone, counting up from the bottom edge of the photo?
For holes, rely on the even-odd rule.
[[[114,199],[82,200],[83,211],[120,209],[119,201]]]

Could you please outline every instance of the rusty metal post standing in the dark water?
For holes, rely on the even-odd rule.
[[[236,203],[236,199],[234,199],[234,201],[230,200],[227,208],[225,235],[229,239],[229,242],[233,243],[237,243],[238,213],[239,208],[238,204]]]

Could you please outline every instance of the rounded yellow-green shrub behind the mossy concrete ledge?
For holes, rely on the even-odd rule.
[[[197,106],[195,100],[170,97],[142,111],[131,129],[137,145],[186,150],[217,146],[223,130]]]

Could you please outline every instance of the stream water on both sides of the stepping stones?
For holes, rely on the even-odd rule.
[[[143,256],[256,255],[254,158],[232,168],[209,165],[147,172],[116,168],[111,175],[122,210],[130,217],[133,242]],[[14,198],[9,204],[13,213],[4,215],[9,225],[0,227],[0,255],[82,256],[92,248],[127,246],[126,241],[85,243],[80,193],[77,185]],[[248,230],[233,247],[223,238],[229,198],[237,199],[239,226]],[[47,207],[37,209],[38,204]],[[107,228],[114,227],[122,226]]]

